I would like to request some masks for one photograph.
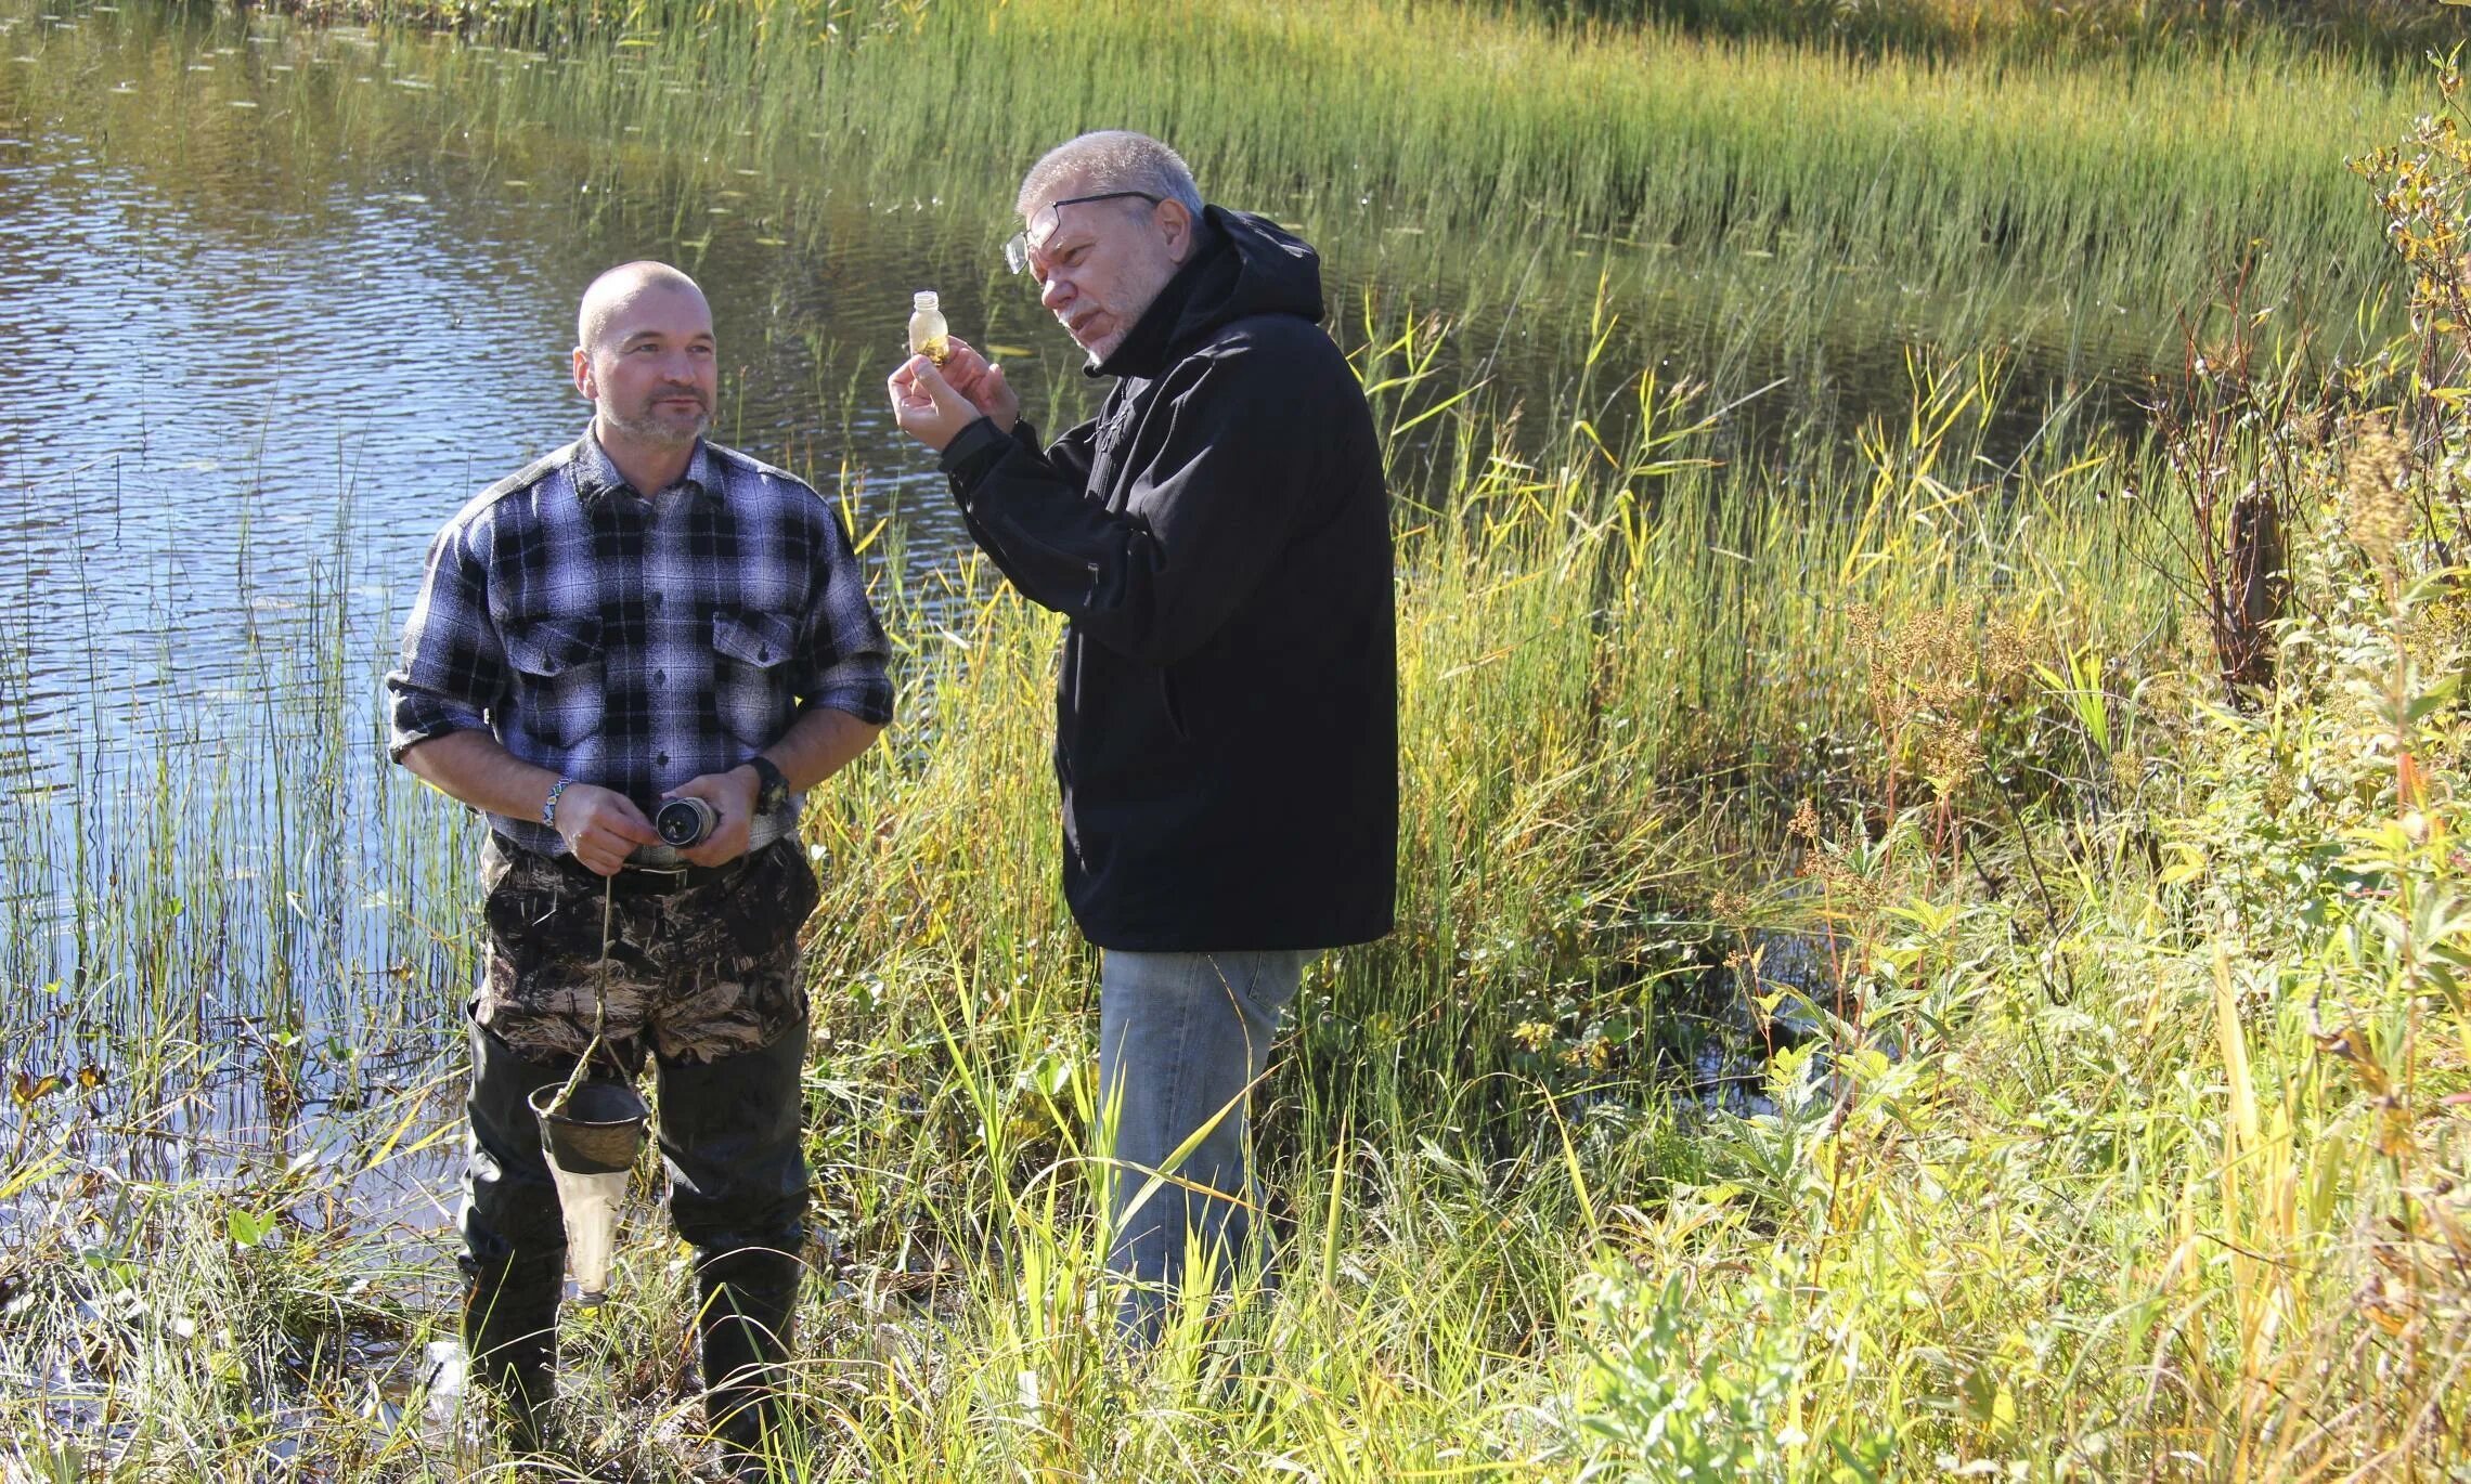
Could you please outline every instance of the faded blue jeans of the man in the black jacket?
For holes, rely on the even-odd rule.
[[[1213,1252],[1221,1284],[1236,1264],[1268,1259],[1253,1222],[1260,1188],[1245,1104],[1310,958],[1107,948],[1100,963],[1102,1156],[1114,1119],[1107,1267],[1134,1284],[1122,1319],[1142,1338],[1156,1336],[1166,1296],[1184,1284],[1186,1249]],[[1176,1161],[1176,1148],[1211,1119],[1211,1131]],[[1169,1180],[1144,1198],[1154,1170]]]

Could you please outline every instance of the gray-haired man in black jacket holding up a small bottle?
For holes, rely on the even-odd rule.
[[[1109,1254],[1151,1336],[1263,1257],[1245,1106],[1307,961],[1391,928],[1389,496],[1305,242],[1124,131],[1050,151],[1016,207],[1006,259],[1114,378],[1100,415],[1040,444],[964,341],[890,393],[979,546],[1070,620],[1065,896],[1102,948]]]

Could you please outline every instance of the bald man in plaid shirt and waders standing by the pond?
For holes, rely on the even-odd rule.
[[[806,1212],[798,810],[892,719],[890,647],[833,509],[704,440],[717,343],[687,274],[600,274],[573,378],[583,437],[447,521],[385,677],[393,758],[489,820],[462,1333],[541,1447],[566,1232],[529,1096],[586,1054],[650,1059],[707,1417],[764,1477]],[[714,810],[704,842],[655,835],[672,798]]]

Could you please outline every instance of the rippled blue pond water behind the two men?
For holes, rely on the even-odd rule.
[[[259,1156],[334,1158],[358,1133],[304,1128],[319,1109],[381,1133],[415,1119],[403,1099],[432,1099],[420,1128],[450,1116],[469,840],[440,849],[435,815],[405,807],[378,674],[440,521],[581,432],[566,348],[598,269],[694,272],[722,336],[719,437],[808,474],[855,528],[882,523],[867,561],[909,578],[966,543],[882,402],[914,289],[1003,348],[1040,425],[1095,402],[1077,351],[998,267],[1021,160],[966,173],[946,202],[887,185],[904,175],[880,160],[682,158],[571,114],[482,131],[482,99],[457,89],[558,64],[440,67],[482,52],[0,0],[0,326],[27,351],[0,407],[0,1025],[10,1074],[106,1074],[173,1032],[213,1052],[183,1067],[215,1094],[151,1123],[178,1148],[128,1141],[124,1168],[178,1173],[200,1148],[227,1165],[240,1156],[183,1141],[237,1128]],[[1554,222],[1436,242],[1371,198],[1236,205],[1317,237],[1344,346],[1448,316],[1431,395],[1488,380],[1497,405],[1552,405],[1601,296],[1616,375],[1767,388],[1722,432],[1740,457],[1789,462],[1866,412],[1900,415],[1917,343],[2011,348],[2009,447],[2071,400],[2090,422],[2130,417],[2167,353],[2150,316],[1989,269],[1920,291],[1875,267],[1685,259]],[[170,975],[178,1007],[116,988],[170,983],[146,965],[173,961],[198,965]],[[0,1133],[20,1114],[0,1106]]]

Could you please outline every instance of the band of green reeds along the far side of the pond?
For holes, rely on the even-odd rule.
[[[1596,235],[2167,321],[2261,244],[2258,301],[2323,301],[2328,323],[2382,252],[2343,160],[2409,116],[2394,69],[2271,35],[1930,62],[1438,2],[1013,0],[862,20],[680,0],[576,40],[514,7],[489,35],[549,52],[378,32],[341,47],[358,67],[299,67],[267,91],[319,131],[420,128],[405,114],[425,104],[455,153],[546,173],[534,200],[561,212],[657,188],[682,244],[729,227],[704,212],[729,190],[771,200],[786,237],[835,212],[937,210],[983,254],[1028,160],[1134,126],[1176,141],[1218,200],[1495,294],[1539,244]],[[173,72],[146,91],[193,86],[217,84]]]

